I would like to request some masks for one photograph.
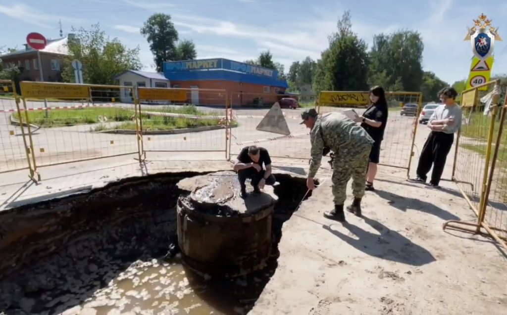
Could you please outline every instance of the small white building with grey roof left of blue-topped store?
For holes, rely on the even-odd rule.
[[[115,80],[119,81],[120,86],[125,87],[141,87],[141,88],[170,88],[170,82],[160,72],[148,72],[138,70],[128,70],[119,74],[115,77]],[[123,103],[132,103],[133,98],[130,90],[120,89],[121,101]]]

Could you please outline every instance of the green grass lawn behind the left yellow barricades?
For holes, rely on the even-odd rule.
[[[210,114],[197,110],[195,106],[171,107],[171,108],[167,107],[164,108],[164,112],[201,115],[201,116]],[[109,126],[101,124],[100,126],[97,126],[94,130],[95,131],[103,131],[105,129],[135,130],[135,121],[132,120],[134,116],[134,111],[132,109],[122,107],[91,107],[82,109],[61,109],[48,111],[48,114],[49,114],[48,117],[46,117],[46,112],[44,110],[29,111],[28,120],[30,124],[46,128],[120,122],[122,124],[119,124],[111,128],[109,128]],[[173,130],[173,129],[194,128],[202,126],[216,126],[219,125],[220,123],[220,120],[218,119],[187,119],[170,116],[156,116],[150,115],[149,113],[143,113],[141,117],[143,121],[144,130]],[[18,119],[17,114],[14,115],[14,119],[15,120]],[[22,115],[22,119],[24,121],[24,115]]]

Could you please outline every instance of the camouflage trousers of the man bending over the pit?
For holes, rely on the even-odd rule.
[[[347,183],[352,178],[352,194],[355,198],[365,195],[366,172],[370,162],[371,144],[337,150],[333,161],[333,201],[335,205],[343,205],[347,199]]]

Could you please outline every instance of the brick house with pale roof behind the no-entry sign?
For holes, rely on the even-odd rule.
[[[39,75],[37,51],[27,44],[23,50],[18,50],[0,56],[4,68],[17,66],[21,70],[20,81],[62,82],[62,56],[67,55],[67,41],[75,38],[74,34],[57,40],[48,40],[48,45],[41,50],[41,64],[43,78]]]

